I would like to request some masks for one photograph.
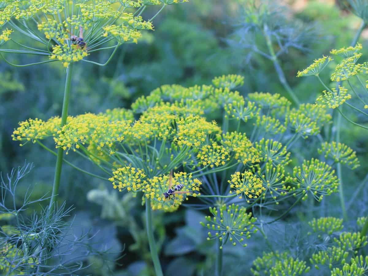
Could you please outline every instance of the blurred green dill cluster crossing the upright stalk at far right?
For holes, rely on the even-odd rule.
[[[318,149],[318,153],[324,154],[325,158],[332,158],[335,163],[345,164],[352,170],[360,166],[355,151],[342,143],[324,142]]]

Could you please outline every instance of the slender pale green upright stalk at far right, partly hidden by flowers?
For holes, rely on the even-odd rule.
[[[353,41],[351,42],[351,46],[355,46],[355,44],[357,44],[358,39],[363,31],[363,29],[365,28],[365,22],[363,21],[360,25],[360,28],[358,29],[357,33],[354,36]],[[341,82],[339,82],[339,84],[337,85],[337,89],[339,88],[339,85],[341,84]],[[337,113],[337,123],[336,123],[336,143],[340,142],[340,128],[341,128],[341,116],[342,113],[339,110],[339,113]],[[345,201],[344,201],[344,190],[343,190],[343,181],[342,181],[342,172],[341,172],[341,164],[338,163],[337,164],[337,177],[339,177],[339,182],[340,182],[340,188],[339,188],[339,196],[340,196],[340,205],[341,205],[341,209],[343,212],[343,218],[344,220],[347,222],[348,221],[348,216],[347,216],[347,212],[346,212],[346,208],[345,208]],[[368,228],[368,222],[367,224],[367,228]],[[366,226],[366,225],[364,225]]]

